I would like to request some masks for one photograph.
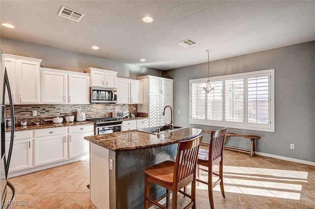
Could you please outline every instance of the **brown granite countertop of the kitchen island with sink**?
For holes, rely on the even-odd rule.
[[[84,137],[84,139],[106,149],[119,152],[163,147],[166,145],[178,143],[179,141],[185,139],[193,138],[200,133],[201,129],[198,128],[185,128],[159,135],[130,130],[110,134],[87,136]]]

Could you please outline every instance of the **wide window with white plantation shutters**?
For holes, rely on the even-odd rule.
[[[189,123],[274,132],[274,69],[189,80]]]

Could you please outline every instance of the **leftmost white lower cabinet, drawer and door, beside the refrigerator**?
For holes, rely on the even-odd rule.
[[[8,156],[11,133],[5,134],[5,156]],[[32,131],[16,133],[13,141],[9,173],[32,167]]]

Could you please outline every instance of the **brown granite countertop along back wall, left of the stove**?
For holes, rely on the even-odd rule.
[[[34,130],[34,129],[41,129],[41,128],[57,128],[57,127],[64,127],[64,126],[73,126],[73,125],[88,125],[88,124],[94,124],[94,122],[91,121],[82,121],[82,122],[63,122],[63,123],[43,123],[39,125],[30,124],[30,125],[16,125],[15,131],[26,131],[26,130]],[[11,131],[11,127],[6,127],[6,132]]]

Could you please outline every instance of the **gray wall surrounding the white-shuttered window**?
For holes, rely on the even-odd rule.
[[[275,68],[275,132],[233,128],[227,132],[261,136],[256,144],[259,152],[315,162],[315,41],[212,61],[210,76],[272,68]],[[205,130],[219,128],[189,124],[189,79],[207,74],[207,63],[162,72],[163,77],[174,79],[175,125]],[[237,138],[229,141],[235,147],[248,144]],[[295,144],[295,149],[290,149],[290,144]]]

